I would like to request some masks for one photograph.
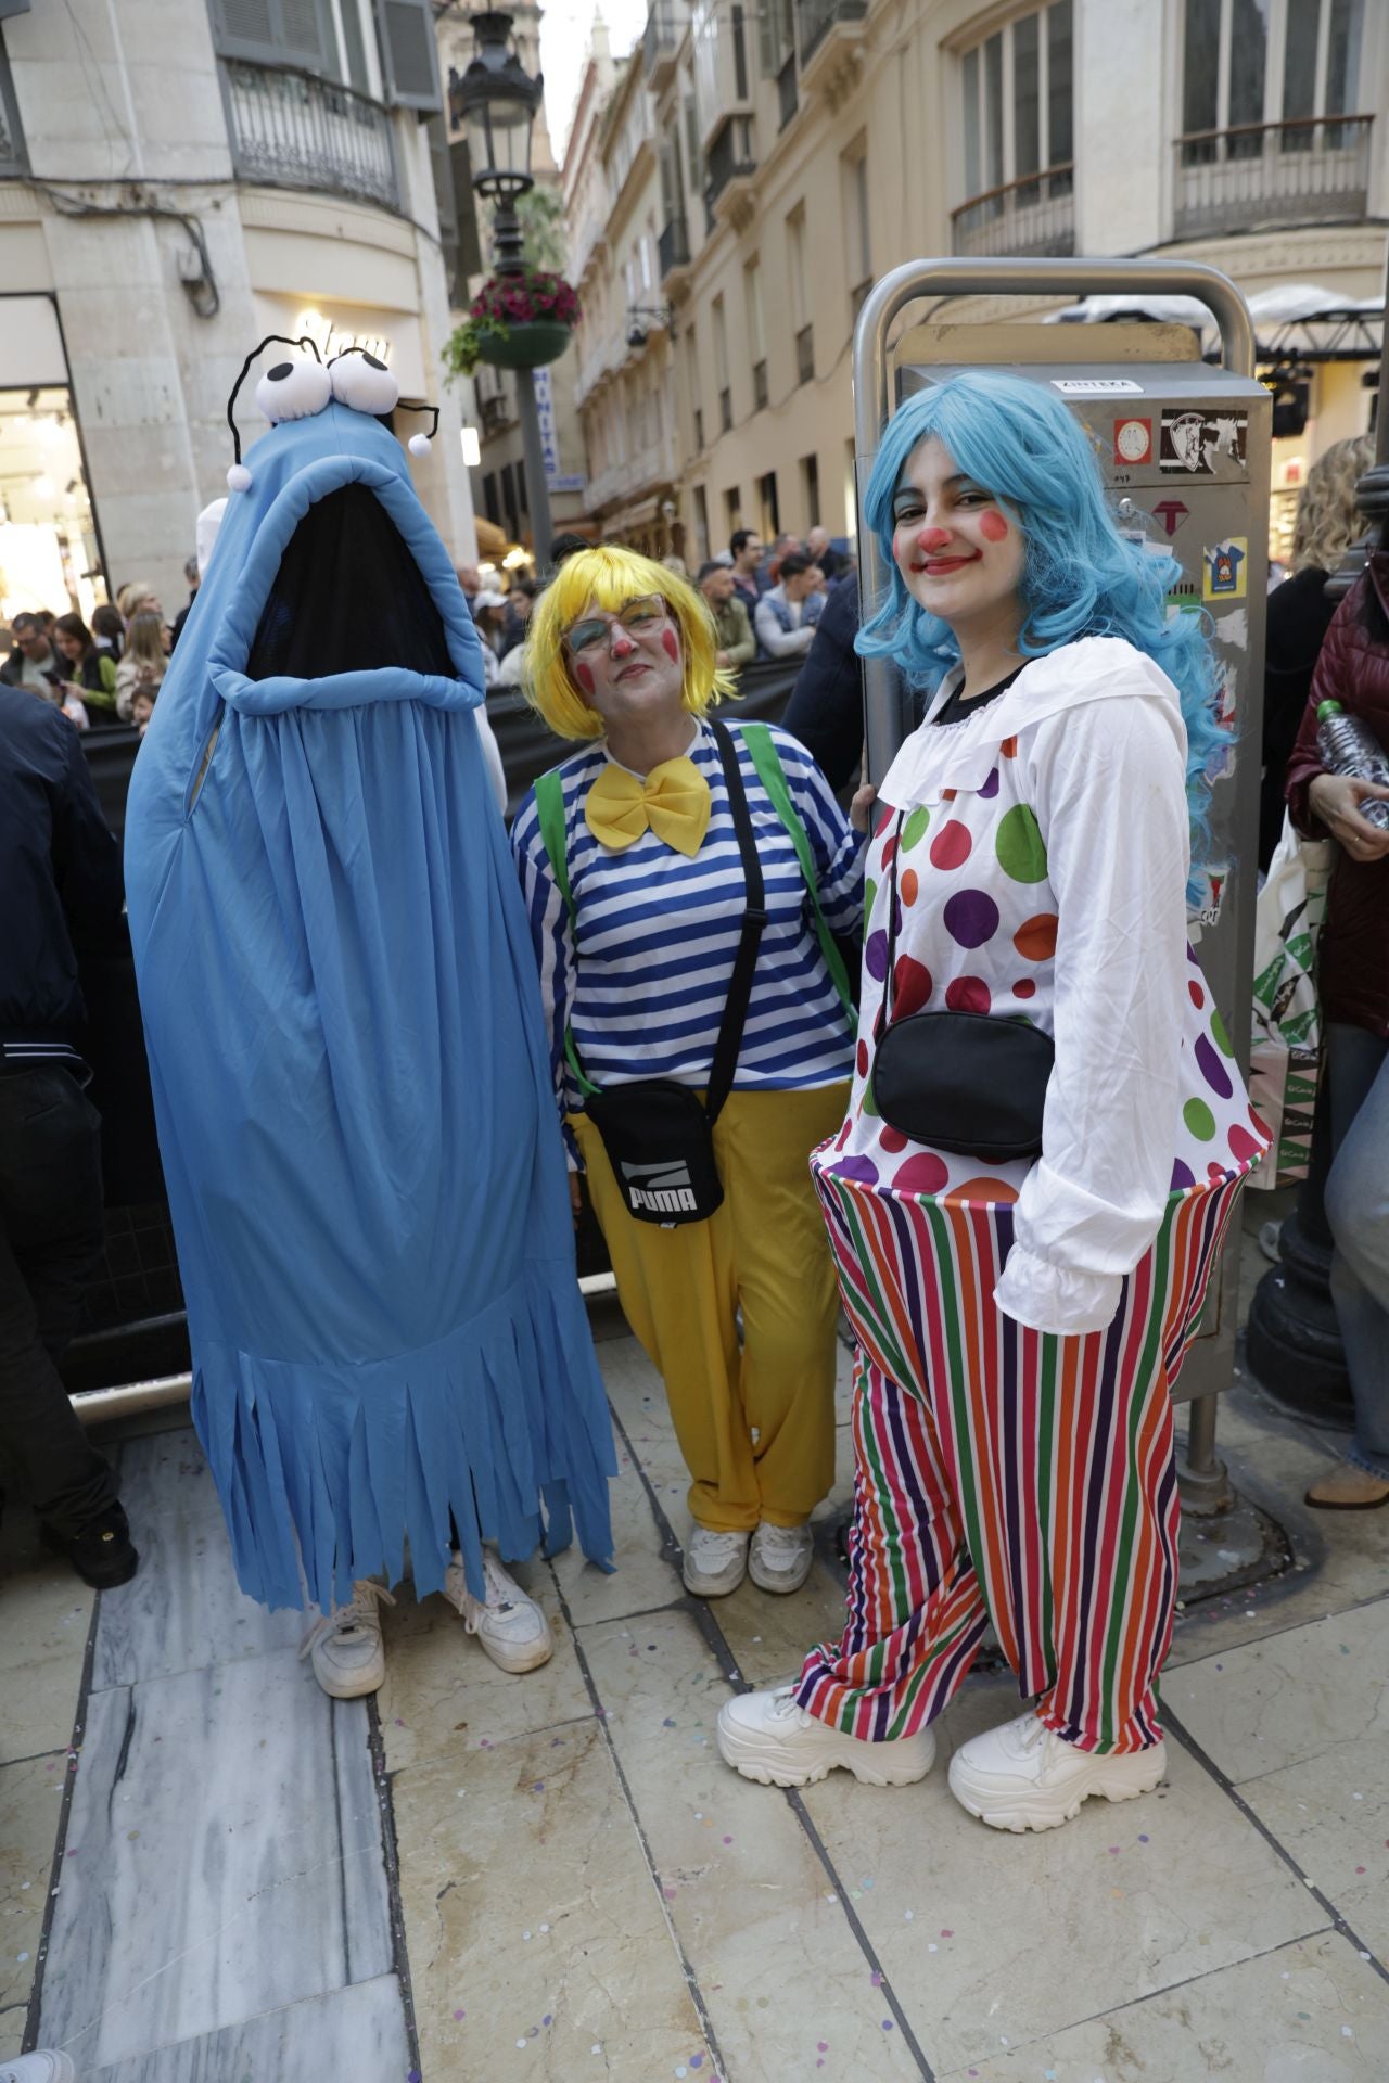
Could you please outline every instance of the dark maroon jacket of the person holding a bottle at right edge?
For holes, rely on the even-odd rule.
[[[1366,583],[1374,587],[1383,631],[1366,629]],[[1335,700],[1362,717],[1389,752],[1389,550],[1379,550],[1337,608],[1322,644],[1297,744],[1287,764],[1287,806],[1312,839],[1327,831],[1312,814],[1310,787],[1324,773],[1316,750],[1316,706]],[[1327,898],[1316,983],[1327,1019],[1389,1039],[1389,856],[1352,860],[1337,854]]]

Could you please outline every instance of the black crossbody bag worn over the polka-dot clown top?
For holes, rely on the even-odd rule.
[[[873,1029],[873,1104],[889,1129],[952,1156],[1004,1164],[1041,1156],[1041,1116],[1056,1044],[1039,1027],[989,1012],[908,1012],[893,1021],[898,860],[887,894],[887,975]]]

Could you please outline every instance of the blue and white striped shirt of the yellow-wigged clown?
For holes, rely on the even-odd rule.
[[[864,842],[806,748],[787,731],[771,735],[810,839],[825,919],[835,933],[854,933],[862,921]],[[820,954],[791,837],[737,725],[733,739],[768,912],[733,1085],[739,1091],[835,1085],[852,1073],[854,1031]],[[637,1077],[708,1083],[746,902],[729,792],[708,725],[700,723],[689,748],[710,785],[708,831],[693,860],[654,831],[623,852],[600,846],[583,804],[606,758],[602,744],[585,746],[558,769],[577,950],[539,835],[535,789],[512,825],[562,1112],[581,1104],[564,1064],[566,1023],[585,1075],[600,1087]]]

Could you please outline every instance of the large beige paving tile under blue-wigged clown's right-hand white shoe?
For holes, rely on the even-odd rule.
[[[1175,1741],[1168,1781],[1141,1802],[1087,1802],[1064,1829],[1025,1837],[966,1816],[945,1785],[948,1754],[1016,1712],[1012,1679],[975,1677],[937,1725],[937,1764],[920,1785],[860,1787],[833,1773],[806,1789],[937,2073],[1327,1923]]]

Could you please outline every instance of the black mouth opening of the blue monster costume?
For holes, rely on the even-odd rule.
[[[458,679],[429,581],[375,492],[350,483],[317,500],[285,544],[246,677],[373,667]]]

